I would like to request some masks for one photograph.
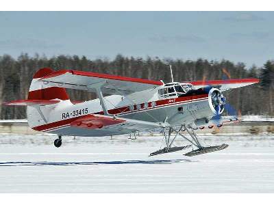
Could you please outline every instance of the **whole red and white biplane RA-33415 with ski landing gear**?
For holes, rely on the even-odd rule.
[[[178,83],[173,82],[172,69],[171,79],[171,83],[164,83],[95,72],[42,68],[34,75],[27,100],[14,100],[5,105],[27,106],[29,126],[36,131],[58,135],[55,147],[62,145],[62,135],[112,136],[158,130],[164,135],[165,147],[150,156],[191,146],[197,149],[192,149],[186,156],[227,148],[227,144],[201,146],[195,130],[238,122],[237,118],[220,117],[226,103],[222,92],[258,83],[258,79]],[[98,98],[73,103],[66,94],[66,88],[96,92]],[[188,135],[182,134],[183,131]],[[184,137],[190,145],[173,146],[177,136]]]

